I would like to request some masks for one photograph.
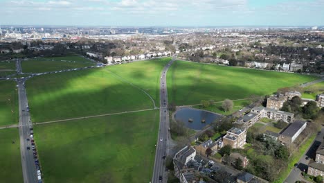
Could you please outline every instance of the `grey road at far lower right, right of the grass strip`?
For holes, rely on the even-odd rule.
[[[303,180],[300,174],[304,170],[307,171],[309,160],[310,160],[310,159],[307,160],[306,157],[315,159],[316,149],[321,144],[321,141],[323,140],[323,135],[324,135],[324,128],[322,128],[321,133],[317,134],[316,138],[312,142],[312,145],[307,148],[303,156],[300,157],[297,168],[291,170],[285,182],[294,183],[297,180]]]

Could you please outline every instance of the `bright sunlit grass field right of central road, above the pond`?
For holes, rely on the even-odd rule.
[[[176,105],[191,105],[201,100],[223,101],[273,94],[278,88],[315,79],[292,73],[177,61],[168,71],[168,96],[169,102]]]

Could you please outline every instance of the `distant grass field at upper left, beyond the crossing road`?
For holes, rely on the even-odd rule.
[[[24,73],[60,71],[63,69],[74,69],[91,65],[94,65],[94,62],[80,56],[35,58],[21,62],[22,71]]]

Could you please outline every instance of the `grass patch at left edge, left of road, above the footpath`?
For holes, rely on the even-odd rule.
[[[0,81],[0,126],[18,123],[18,93],[16,82]]]

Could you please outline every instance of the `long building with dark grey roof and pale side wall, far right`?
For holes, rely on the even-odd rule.
[[[294,123],[291,123],[288,128],[279,135],[279,141],[282,144],[289,146],[295,141],[299,134],[303,132],[306,125],[307,123],[305,121],[295,121]]]

